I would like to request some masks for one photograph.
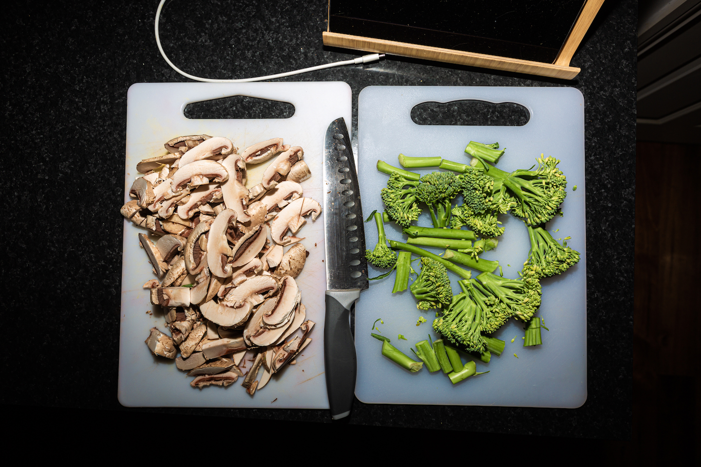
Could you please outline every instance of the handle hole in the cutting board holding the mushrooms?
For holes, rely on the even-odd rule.
[[[290,118],[294,106],[259,97],[229,96],[191,102],[183,113],[187,118]]]

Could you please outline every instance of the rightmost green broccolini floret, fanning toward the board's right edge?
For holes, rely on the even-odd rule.
[[[538,279],[550,277],[565,272],[579,262],[578,251],[571,249],[566,242],[559,244],[547,230],[528,225],[528,233],[531,252],[524,263],[524,275]]]

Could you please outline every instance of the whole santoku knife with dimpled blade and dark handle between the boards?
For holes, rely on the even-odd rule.
[[[326,319],[324,364],[332,419],[351,413],[355,393],[355,342],[349,316],[368,286],[365,230],[351,138],[343,118],[324,139]]]

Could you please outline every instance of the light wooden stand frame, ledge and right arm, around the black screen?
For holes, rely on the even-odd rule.
[[[581,69],[570,67],[569,62],[572,60],[572,56],[579,47],[587,29],[589,29],[603,3],[604,0],[587,0],[587,3],[583,6],[580,15],[569,32],[562,48],[559,50],[559,53],[557,53],[557,57],[553,63],[533,62],[531,60],[463,52],[462,50],[421,46],[414,43],[339,34],[330,31],[328,22],[327,30],[322,33],[322,39],[324,45],[329,47],[365,50],[366,52],[386,53],[389,55],[399,55],[400,57],[412,57],[436,62],[468,65],[470,67],[513,71],[515,73],[548,76],[550,78],[572,79],[579,74]]]

